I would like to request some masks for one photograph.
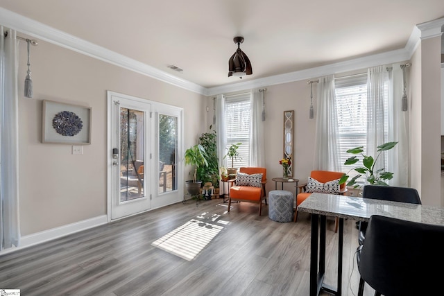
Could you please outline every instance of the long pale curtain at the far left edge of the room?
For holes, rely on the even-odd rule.
[[[0,26],[0,250],[19,245],[19,155],[16,33]],[[8,36],[3,37],[8,31]]]

